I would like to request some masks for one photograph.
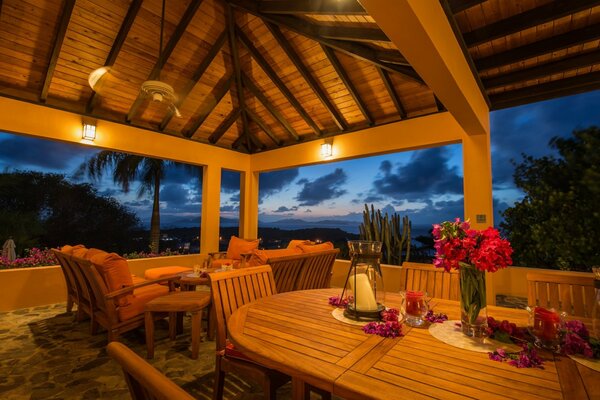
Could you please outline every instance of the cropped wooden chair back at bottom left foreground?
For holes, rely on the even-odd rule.
[[[108,354],[123,368],[125,381],[133,400],[194,398],[124,344],[111,342],[107,350]]]

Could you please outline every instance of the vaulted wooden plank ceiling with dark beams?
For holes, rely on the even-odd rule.
[[[600,0],[440,1],[492,108],[600,86]],[[0,0],[0,95],[250,153],[444,110],[356,0],[167,0],[159,57],[161,10]]]

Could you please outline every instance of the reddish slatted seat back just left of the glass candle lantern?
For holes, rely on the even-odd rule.
[[[313,257],[306,257],[294,290],[328,288],[331,283],[333,264],[339,252],[340,249],[326,250],[313,253]]]

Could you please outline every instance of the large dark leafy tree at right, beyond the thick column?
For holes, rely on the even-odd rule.
[[[514,179],[525,198],[501,226],[515,265],[590,271],[600,265],[600,129],[555,137],[550,147],[558,156],[523,155]]]

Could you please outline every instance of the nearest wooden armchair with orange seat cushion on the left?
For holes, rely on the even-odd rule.
[[[174,290],[174,282],[180,277],[162,277],[143,281],[119,290],[109,291],[98,266],[83,258],[72,257],[73,265],[85,278],[92,301],[92,331],[98,325],[108,331],[108,341],[116,341],[121,333],[144,325],[144,305],[150,300]],[[159,283],[168,281],[169,285]],[[155,314],[156,319],[165,315]]]

